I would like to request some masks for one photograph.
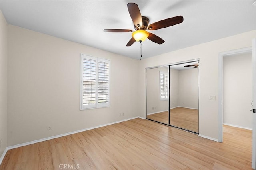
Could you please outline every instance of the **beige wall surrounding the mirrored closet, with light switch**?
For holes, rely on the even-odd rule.
[[[145,117],[145,68],[199,58],[199,134],[218,139],[218,55],[223,51],[250,47],[252,38],[255,38],[255,30],[143,59],[139,62],[138,72],[140,116]],[[209,100],[210,95],[216,95],[217,99]]]

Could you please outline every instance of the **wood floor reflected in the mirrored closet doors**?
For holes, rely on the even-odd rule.
[[[168,124],[168,111],[148,115],[147,118]],[[184,107],[170,109],[170,125],[198,133],[198,110]]]

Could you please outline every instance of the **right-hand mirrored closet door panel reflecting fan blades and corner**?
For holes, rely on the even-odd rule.
[[[198,62],[170,66],[170,125],[196,133],[198,76]]]

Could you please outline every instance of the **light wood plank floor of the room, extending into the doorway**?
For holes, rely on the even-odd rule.
[[[252,132],[224,126],[224,142],[132,119],[8,150],[1,170],[251,169]],[[62,168],[62,166],[61,166]]]

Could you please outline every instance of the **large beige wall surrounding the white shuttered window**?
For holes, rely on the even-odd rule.
[[[80,53],[111,61],[110,107],[80,111]],[[8,146],[137,117],[137,82],[135,59],[9,25]]]

